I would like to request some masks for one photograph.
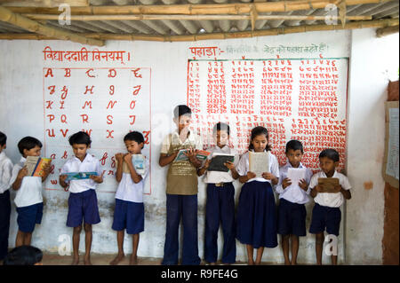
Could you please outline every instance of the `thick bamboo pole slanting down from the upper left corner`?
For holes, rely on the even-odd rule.
[[[44,26],[35,20],[30,20],[17,13],[11,12],[9,9],[0,6],[0,20],[8,22],[15,27],[34,32],[39,35],[49,36],[55,39],[69,40],[75,43],[103,46],[104,41],[93,38],[86,38],[83,35],[77,35],[71,32]]]

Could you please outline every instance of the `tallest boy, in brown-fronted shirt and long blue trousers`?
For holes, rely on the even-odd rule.
[[[166,232],[164,259],[162,264],[178,263],[180,218],[183,225],[182,264],[197,265],[197,173],[201,161],[196,151],[203,149],[201,138],[191,132],[191,110],[188,106],[176,106],[173,110],[173,122],[177,130],[164,138],[159,164],[170,165],[166,184]],[[179,151],[187,149],[186,161],[175,161]]]

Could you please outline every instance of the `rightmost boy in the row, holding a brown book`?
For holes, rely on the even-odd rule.
[[[316,173],[310,181],[310,195],[314,198],[316,205],[313,208],[313,216],[309,232],[316,234],[316,264],[322,264],[322,251],[324,245],[324,230],[331,235],[339,236],[341,212],[340,206],[344,200],[351,199],[348,177],[336,171],[339,165],[339,153],[334,149],[324,149],[319,153],[319,166],[322,171]],[[340,185],[335,187],[336,193],[321,193],[322,188],[318,185],[319,177],[339,178]],[[338,255],[332,255],[332,264],[336,265]]]

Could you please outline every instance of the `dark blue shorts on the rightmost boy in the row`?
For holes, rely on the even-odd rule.
[[[341,212],[340,208],[324,207],[316,203],[313,208],[313,216],[311,218],[311,225],[309,232],[317,234],[326,232],[335,236],[339,236]]]

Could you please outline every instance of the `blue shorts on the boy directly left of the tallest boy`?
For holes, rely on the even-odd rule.
[[[126,229],[128,234],[139,234],[144,231],[143,202],[132,202],[116,199],[114,221],[112,229],[121,231]]]

